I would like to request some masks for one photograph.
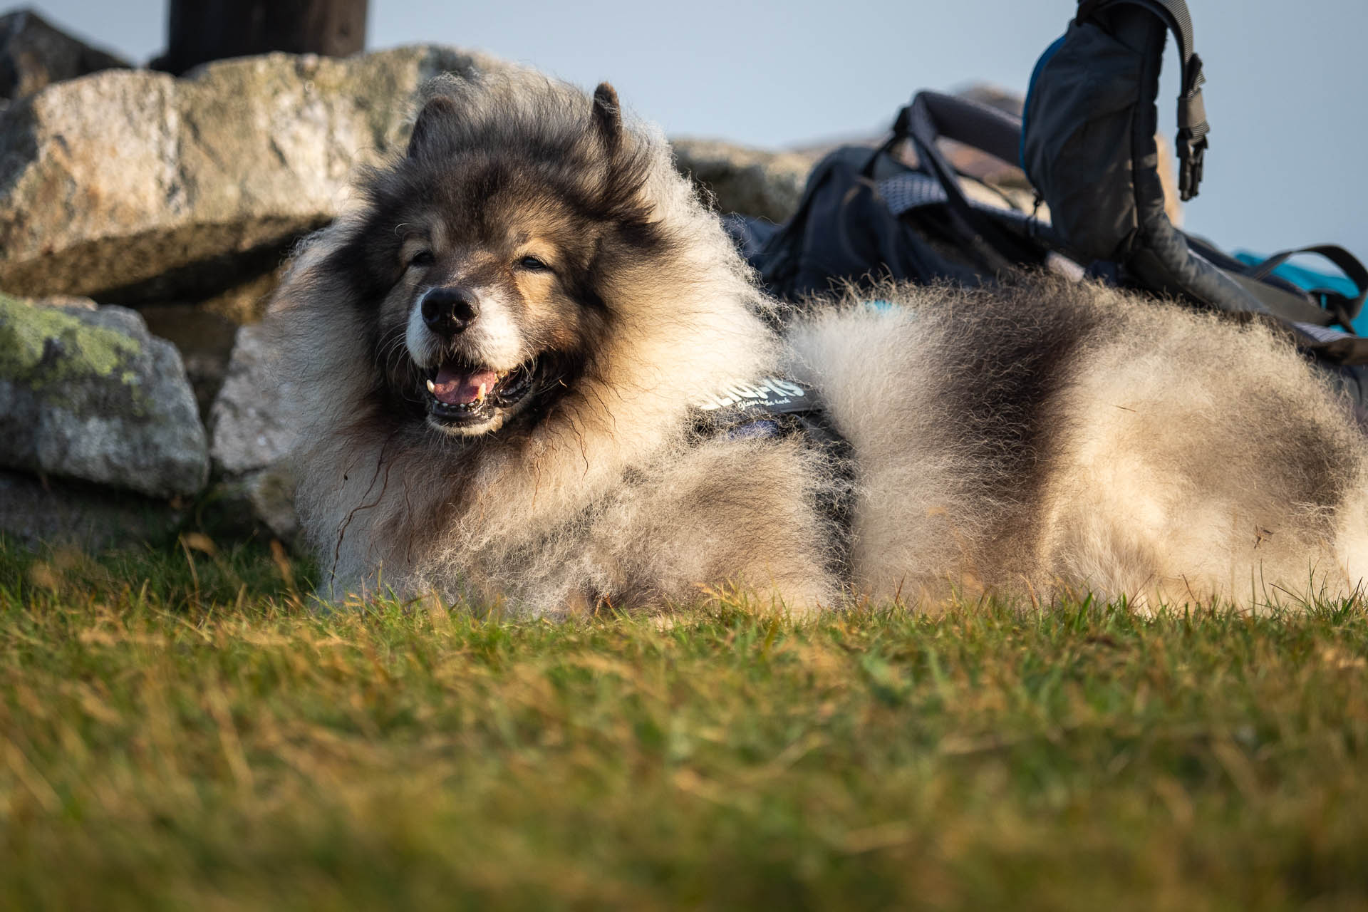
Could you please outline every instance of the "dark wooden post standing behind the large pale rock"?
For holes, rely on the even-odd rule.
[[[159,70],[182,74],[209,60],[268,51],[334,57],[365,46],[368,0],[171,0]]]

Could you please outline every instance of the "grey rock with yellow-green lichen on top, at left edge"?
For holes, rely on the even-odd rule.
[[[208,442],[175,346],[124,308],[0,295],[0,468],[198,492]]]

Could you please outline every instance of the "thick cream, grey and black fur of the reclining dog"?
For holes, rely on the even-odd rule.
[[[408,155],[360,190],[272,305],[331,598],[1257,607],[1368,567],[1361,433],[1257,325],[1038,276],[893,287],[903,306],[818,308],[780,339],[663,138],[607,86],[523,71],[430,86]],[[436,287],[479,305],[446,349],[419,316]],[[532,391],[453,409],[424,371],[438,397],[494,372]],[[773,371],[852,446],[848,536],[818,507],[828,451],[695,429],[699,394]]]

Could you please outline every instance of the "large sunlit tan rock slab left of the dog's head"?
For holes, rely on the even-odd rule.
[[[0,112],[0,287],[134,304],[267,272],[402,139],[421,82],[498,66],[412,46],[49,86]]]

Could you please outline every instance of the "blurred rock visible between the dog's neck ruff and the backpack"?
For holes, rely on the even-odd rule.
[[[714,139],[674,139],[679,170],[710,191],[720,212],[739,212],[770,222],[793,215],[803,196],[813,156],[765,152]]]

